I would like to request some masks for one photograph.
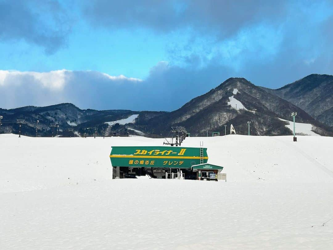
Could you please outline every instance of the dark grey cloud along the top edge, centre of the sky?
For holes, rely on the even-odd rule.
[[[282,18],[285,1],[89,1],[84,15],[95,25],[107,28],[149,28],[170,32],[193,28],[218,36],[234,34],[254,22],[272,22]]]

